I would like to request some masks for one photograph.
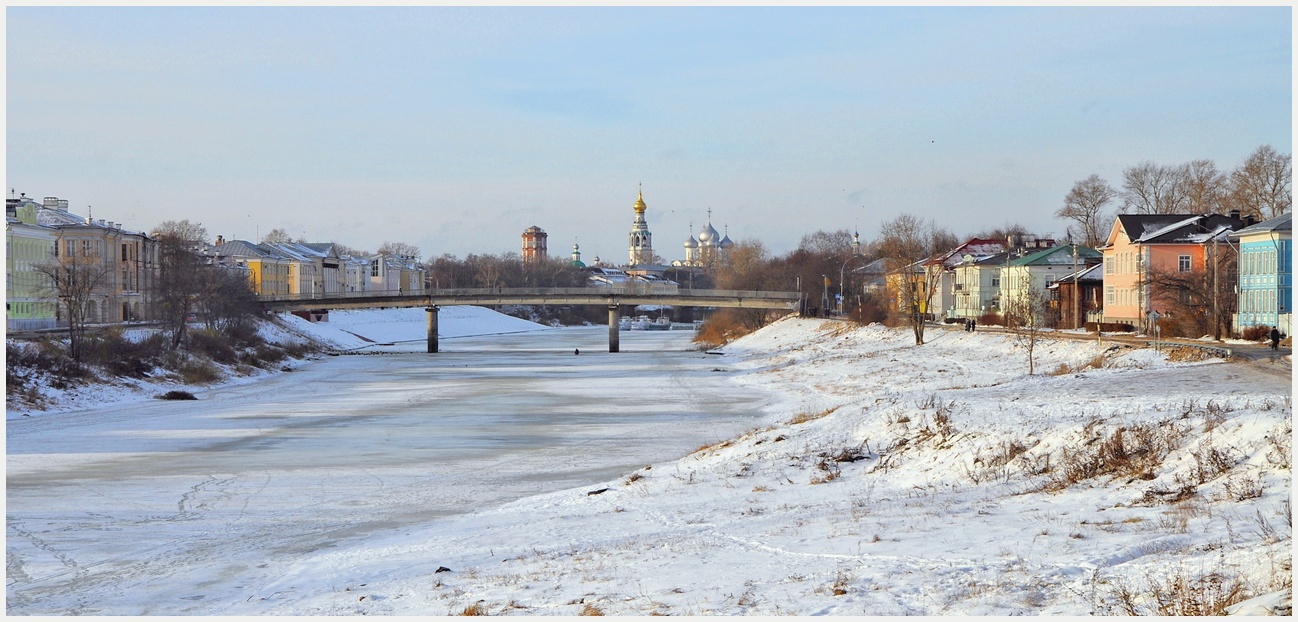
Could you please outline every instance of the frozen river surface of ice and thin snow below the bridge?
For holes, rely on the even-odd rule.
[[[755,426],[763,397],[691,336],[623,332],[617,355],[605,327],[453,339],[9,421],[6,613],[219,614],[308,553]]]

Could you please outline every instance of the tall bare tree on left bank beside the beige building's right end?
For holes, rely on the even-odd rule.
[[[149,234],[158,244],[158,277],[153,282],[153,309],[171,335],[171,347],[184,343],[195,300],[202,295],[202,262],[197,248],[208,230],[196,222],[166,221]]]

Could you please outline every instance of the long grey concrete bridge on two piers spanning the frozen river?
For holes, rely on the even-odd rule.
[[[605,305],[609,308],[609,352],[618,352],[619,305],[713,306],[733,309],[798,309],[798,292],[681,290],[675,284],[628,283],[607,287],[491,287],[369,291],[315,295],[266,295],[270,312],[423,306],[428,312],[428,352],[437,352],[437,310],[449,305]]]

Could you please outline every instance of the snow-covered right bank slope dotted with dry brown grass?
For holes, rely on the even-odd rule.
[[[915,347],[785,319],[716,358],[771,392],[762,427],[315,554],[261,590],[292,597],[230,613],[1089,616],[1232,590],[1258,596],[1245,613],[1288,606],[1288,358],[1036,356],[1051,374],[1027,375],[1007,335]]]

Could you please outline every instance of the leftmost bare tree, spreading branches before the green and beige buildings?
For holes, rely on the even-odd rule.
[[[112,270],[97,249],[75,242],[58,236],[56,256],[35,264],[32,270],[48,278],[40,293],[58,301],[67,318],[67,356],[80,362],[86,326],[95,317],[96,303],[103,304],[101,299],[108,295]]]

